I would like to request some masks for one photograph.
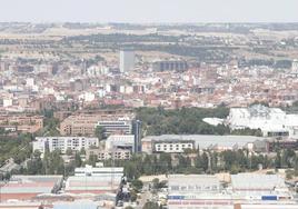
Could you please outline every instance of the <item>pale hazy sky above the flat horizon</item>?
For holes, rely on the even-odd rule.
[[[298,0],[0,0],[0,21],[298,22]]]

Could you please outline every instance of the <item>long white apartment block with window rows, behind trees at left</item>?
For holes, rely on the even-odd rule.
[[[53,151],[59,149],[66,153],[68,149],[80,151],[82,148],[89,149],[90,147],[98,147],[98,138],[88,137],[37,137],[33,141],[33,151],[39,150],[44,153],[46,149]]]

